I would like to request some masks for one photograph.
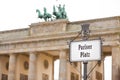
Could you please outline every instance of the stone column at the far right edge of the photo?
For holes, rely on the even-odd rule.
[[[120,48],[112,47],[112,80],[120,80]]]

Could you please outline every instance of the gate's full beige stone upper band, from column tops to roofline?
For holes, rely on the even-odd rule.
[[[120,17],[78,22],[57,20],[33,23],[27,29],[0,32],[0,54],[68,49],[68,42],[78,35],[84,23],[90,24],[91,39],[101,37],[104,46],[120,44]]]

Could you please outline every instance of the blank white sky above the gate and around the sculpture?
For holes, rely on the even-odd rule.
[[[119,0],[0,0],[0,31],[28,28],[41,22],[36,9],[52,13],[53,5],[65,4],[69,21],[119,16]]]

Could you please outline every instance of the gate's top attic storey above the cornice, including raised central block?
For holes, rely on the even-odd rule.
[[[30,25],[30,28],[1,31],[0,39],[1,41],[8,41],[11,39],[16,40],[20,38],[30,37],[30,34],[31,36],[38,36],[38,34],[39,36],[46,36],[62,33],[62,31],[64,33],[77,32],[81,30],[80,25],[84,23],[90,23],[90,30],[116,29],[120,27],[120,16],[76,22],[69,22],[67,20],[57,20],[52,22],[33,23]]]

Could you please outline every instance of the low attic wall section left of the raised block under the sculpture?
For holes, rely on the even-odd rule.
[[[18,40],[29,36],[29,28],[0,32],[0,42]]]

